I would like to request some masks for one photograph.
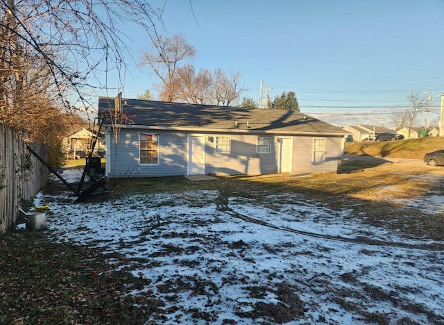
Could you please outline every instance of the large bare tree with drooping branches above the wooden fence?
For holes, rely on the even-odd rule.
[[[0,123],[56,147],[72,122],[62,109],[88,108],[108,72],[126,69],[123,26],[157,37],[150,2],[0,0]]]

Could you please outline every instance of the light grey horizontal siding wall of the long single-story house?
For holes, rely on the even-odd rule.
[[[139,133],[159,135],[159,164],[139,165]],[[108,150],[106,152],[106,172],[110,178],[121,177],[158,177],[187,175],[188,138],[196,133],[169,133],[165,131],[137,131],[121,129],[119,141],[113,142],[110,130],[106,133]],[[221,135],[221,134],[219,134]],[[216,136],[205,134],[205,174],[273,174],[279,172],[280,142],[278,136],[264,134],[226,135],[230,136],[230,152],[215,151]],[[271,152],[257,153],[257,137],[271,138]],[[292,174],[307,172],[336,171],[343,151],[342,136],[315,137],[326,139],[326,160],[322,164],[313,163],[314,137],[298,136],[293,138]]]

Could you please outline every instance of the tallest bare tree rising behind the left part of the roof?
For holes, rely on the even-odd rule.
[[[160,78],[160,100],[173,101],[176,95],[174,78],[176,78],[178,63],[187,58],[194,58],[196,49],[189,45],[183,35],[173,35],[162,38],[158,35],[153,39],[151,52],[144,52],[141,65],[149,65]]]

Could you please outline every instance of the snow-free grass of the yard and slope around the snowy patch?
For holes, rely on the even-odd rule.
[[[427,143],[424,141],[416,143],[414,140],[409,140],[409,144],[402,142],[402,140],[381,144],[349,144],[346,149],[349,153],[355,154],[370,154],[370,152],[377,151],[394,155],[399,153],[397,151],[399,146],[404,146],[404,150],[409,148],[409,151],[414,151],[414,143],[416,143],[418,151],[432,151],[432,149],[425,148],[431,148],[432,145],[438,147],[441,139],[433,138],[430,142],[428,140],[427,138]],[[78,160],[76,161],[78,162]],[[443,176],[444,168],[432,168],[425,164],[420,167],[411,167],[402,164],[378,165],[365,162],[344,162],[339,166],[337,173],[308,176],[287,174],[228,176],[221,177],[217,181],[204,182],[188,181],[183,177],[122,178],[110,181],[108,184],[109,196],[91,198],[89,203],[94,206],[108,202],[112,203],[114,209],[120,210],[123,206],[119,206],[121,204],[117,203],[119,200],[140,195],[146,199],[146,203],[144,203],[146,206],[159,204],[160,208],[169,208],[169,206],[173,208],[176,204],[173,201],[156,203],[150,198],[160,193],[179,194],[179,197],[180,193],[184,193],[185,199],[187,199],[186,196],[189,196],[189,193],[207,192],[219,193],[214,203],[216,206],[222,207],[222,210],[227,206],[229,199],[248,200],[252,204],[262,204],[271,210],[278,210],[279,202],[269,201],[269,197],[298,197],[300,201],[322,202],[323,206],[334,211],[352,210],[351,215],[355,221],[368,224],[369,227],[387,231],[402,230],[405,240],[434,240],[435,246],[429,247],[425,243],[423,249],[442,251],[444,242],[443,214],[425,213],[416,208],[405,208],[403,200],[425,199],[430,195],[429,193],[442,195],[444,184],[439,180]],[[44,192],[57,195],[60,194],[60,190],[64,189],[52,183]],[[69,199],[65,200],[62,202],[63,204],[71,204]],[[192,198],[189,200],[192,201]],[[205,200],[208,199],[203,197],[203,202]],[[198,201],[193,202],[196,207],[203,204]],[[139,206],[140,204],[134,201],[131,202],[130,208],[137,209]],[[153,231],[162,226],[162,222],[156,222],[157,224],[150,225],[150,229]],[[353,219],[350,222],[353,222]],[[81,226],[76,229],[76,231],[86,230]],[[175,232],[169,235],[180,236],[185,240],[186,233]],[[203,240],[198,233],[194,233],[194,235],[196,238],[192,240],[196,242]],[[54,238],[51,232],[11,230],[0,235],[0,324],[110,324],[111,322],[114,324],[144,324],[150,315],[161,313],[165,307],[165,302],[151,296],[150,292],[152,293],[152,291],[150,290],[143,295],[130,294],[133,290],[150,288],[150,285],[153,285],[151,281],[154,280],[149,276],[132,274],[127,266],[128,256],[124,256],[119,250],[105,253],[105,246],[89,249],[86,246],[71,242],[57,242],[56,240],[57,238]],[[364,238],[358,240],[366,241]],[[120,243],[122,248],[127,244],[123,240]],[[239,251],[242,255],[248,250],[245,245],[243,242],[233,242],[229,248]],[[190,247],[198,249],[195,245]],[[176,249],[176,251],[170,252],[173,256],[179,251],[178,247],[166,246],[165,249]],[[265,245],[264,249],[268,253],[273,253],[281,249],[282,251],[287,250],[289,247],[284,249],[284,247],[273,248]],[[362,252],[372,253],[367,249],[363,249]],[[308,252],[304,253],[308,254]],[[114,261],[113,265],[110,265],[110,260]],[[149,259],[136,262],[153,263]],[[188,263],[191,262],[196,263],[191,260]],[[247,260],[247,262],[253,263],[254,261]],[[409,263],[413,265],[413,262]],[[213,271],[218,272],[216,267]],[[356,275],[344,273],[341,276],[347,281],[351,281],[350,283],[354,286],[358,284]],[[183,279],[177,278],[176,282],[169,282],[169,285],[177,287],[178,291],[176,292],[168,294],[166,287],[157,285],[157,288],[167,292],[167,299],[177,299],[181,290],[191,288],[191,290],[198,292],[207,290],[205,289],[207,285],[210,285],[210,288],[214,286],[212,283],[196,282],[194,286],[190,287],[189,283],[178,283]],[[245,280],[240,279],[239,281]],[[327,281],[327,278],[323,281]],[[275,319],[275,322],[278,322],[280,320],[288,321],[293,319],[292,317],[297,318],[300,313],[304,313],[298,297],[294,294],[296,288],[290,288],[288,283],[280,285],[284,289],[267,289],[254,284],[247,288],[251,291],[252,296],[257,297],[264,296],[267,291],[276,290],[275,292],[278,296],[280,295],[281,300],[287,301],[287,306],[292,309],[289,307],[290,309],[280,310],[278,307],[272,308],[272,306],[259,303],[255,306],[257,309],[250,313],[245,312],[244,316],[271,317],[269,319]],[[323,283],[323,286],[325,285],[327,282]],[[386,292],[369,285],[364,285],[363,288],[364,291],[368,291],[371,297],[377,297],[377,299],[388,297]],[[214,288],[213,293],[216,293],[217,290],[221,289]],[[359,294],[360,299],[363,299],[362,292],[354,294]],[[345,310],[360,308],[356,303],[352,306],[340,295],[336,297],[335,301]],[[412,304],[406,308],[417,310],[418,313],[425,313],[425,315],[429,315],[430,319],[438,319],[434,313],[422,306]],[[205,319],[210,322],[214,317],[214,315],[200,313],[199,310],[189,310],[189,313],[196,314],[193,316],[196,317],[196,322]],[[367,322],[388,324],[388,318],[382,314],[368,314],[364,309],[360,309],[359,313],[364,319],[367,319]],[[285,317],[276,318],[278,314],[285,315]],[[321,318],[318,320],[322,321]],[[232,322],[232,319],[226,319],[223,324],[235,323]],[[403,324],[413,323],[409,322],[409,319],[404,319]]]

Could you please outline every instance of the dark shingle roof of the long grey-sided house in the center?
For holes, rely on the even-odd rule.
[[[114,112],[114,99],[99,97],[99,116]],[[265,110],[123,99],[123,123],[166,128],[348,134],[342,128],[293,110]],[[110,124],[110,119],[105,119]]]

